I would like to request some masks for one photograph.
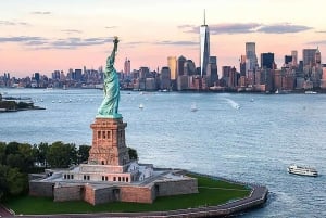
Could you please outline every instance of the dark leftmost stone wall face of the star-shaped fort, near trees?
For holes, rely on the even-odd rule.
[[[29,181],[29,195],[53,197],[54,182]]]

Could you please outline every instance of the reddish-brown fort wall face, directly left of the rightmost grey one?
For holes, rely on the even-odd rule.
[[[121,187],[121,202],[153,203],[155,194],[153,187]]]

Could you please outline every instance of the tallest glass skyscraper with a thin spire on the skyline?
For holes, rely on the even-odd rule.
[[[206,25],[204,11],[204,23],[200,26],[200,75],[206,74],[206,66],[210,61],[210,29]]]

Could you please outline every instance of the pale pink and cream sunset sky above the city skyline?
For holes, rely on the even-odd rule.
[[[211,55],[239,68],[246,42],[256,55],[284,56],[318,47],[326,56],[324,0],[1,0],[0,75],[103,66],[114,36],[120,37],[115,68],[167,65],[167,56],[199,66],[199,26],[210,28]],[[323,55],[324,53],[324,55]]]

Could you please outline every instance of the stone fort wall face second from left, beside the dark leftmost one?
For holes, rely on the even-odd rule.
[[[83,200],[84,190],[84,185],[57,184],[53,191],[54,202]]]

